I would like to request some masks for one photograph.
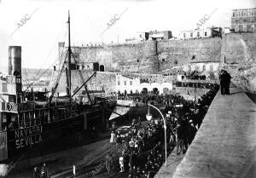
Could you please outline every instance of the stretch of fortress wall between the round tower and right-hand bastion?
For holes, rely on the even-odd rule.
[[[160,71],[195,62],[219,62],[221,38],[162,41],[158,43]]]

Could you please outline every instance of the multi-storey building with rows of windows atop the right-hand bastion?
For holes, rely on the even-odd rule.
[[[256,32],[256,8],[233,9],[231,28],[235,32]]]

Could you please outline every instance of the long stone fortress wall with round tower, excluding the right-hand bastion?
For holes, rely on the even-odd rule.
[[[220,37],[214,37],[73,47],[73,51],[90,68],[98,62],[105,71],[159,73],[189,62],[219,62],[221,44]]]

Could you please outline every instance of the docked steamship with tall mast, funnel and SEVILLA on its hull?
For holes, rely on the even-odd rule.
[[[71,90],[70,16],[68,13],[67,61],[61,72],[67,72],[67,95],[56,96],[60,74],[49,91],[22,90],[21,47],[9,46],[9,73],[0,77],[0,163],[11,159],[33,158],[90,142],[90,129],[102,129],[115,106],[114,100],[91,97],[86,83]],[[82,75],[81,75],[82,78]],[[73,83],[74,84],[74,83]],[[77,102],[74,96],[84,88],[89,104]]]

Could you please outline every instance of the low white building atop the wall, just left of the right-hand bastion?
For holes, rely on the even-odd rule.
[[[221,27],[207,27],[202,29],[182,31],[179,34],[180,39],[195,39],[204,37],[221,37]]]

